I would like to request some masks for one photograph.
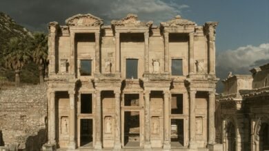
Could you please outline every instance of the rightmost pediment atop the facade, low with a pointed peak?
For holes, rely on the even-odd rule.
[[[161,26],[163,27],[179,27],[186,25],[196,25],[195,22],[189,21],[188,19],[182,19],[180,15],[175,16],[175,19],[172,19],[167,22],[161,22]]]

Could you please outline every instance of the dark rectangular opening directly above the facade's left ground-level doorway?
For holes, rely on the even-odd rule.
[[[92,94],[81,94],[81,113],[92,114]]]

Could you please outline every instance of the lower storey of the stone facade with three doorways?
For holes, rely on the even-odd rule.
[[[49,87],[47,147],[208,150],[215,144],[212,102],[211,91],[169,86]]]

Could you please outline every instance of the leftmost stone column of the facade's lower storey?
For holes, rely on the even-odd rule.
[[[55,92],[50,92],[50,144],[56,144],[55,134]]]

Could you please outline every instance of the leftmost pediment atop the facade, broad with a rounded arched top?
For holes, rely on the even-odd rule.
[[[66,19],[66,25],[70,26],[100,26],[103,25],[103,19],[92,14],[77,14]]]

